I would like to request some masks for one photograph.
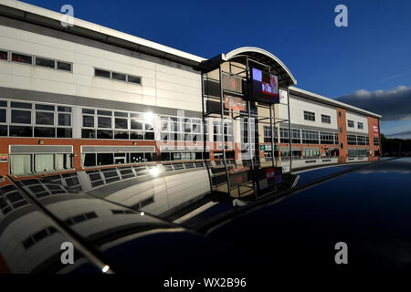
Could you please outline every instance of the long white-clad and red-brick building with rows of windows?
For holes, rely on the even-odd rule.
[[[58,13],[34,5],[0,5],[0,153],[8,155],[0,174],[216,160],[223,155],[217,143],[223,136],[226,158],[242,164],[247,157],[241,144],[248,142],[241,132],[248,123],[231,119],[233,112],[247,111],[242,98],[248,71],[241,56],[278,76],[280,102],[287,102],[290,90],[291,132],[281,103],[272,110],[273,143],[267,120],[252,130],[257,140],[250,147],[258,162],[274,154],[280,164],[292,154],[294,167],[303,167],[379,154],[380,116],[289,88],[296,84],[290,70],[262,49],[239,48],[207,60],[79,19],[68,29]],[[225,115],[231,120],[222,124],[210,115],[203,124],[202,101],[220,89],[215,61],[231,96]],[[258,102],[249,111],[269,117]]]

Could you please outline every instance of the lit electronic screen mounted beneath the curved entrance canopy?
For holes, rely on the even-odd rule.
[[[251,79],[251,99],[264,103],[279,103],[279,78],[276,75],[251,68]]]

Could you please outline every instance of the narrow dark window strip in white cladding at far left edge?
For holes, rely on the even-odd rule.
[[[38,57],[33,55],[21,54],[3,49],[0,49],[0,60],[38,66],[42,68],[52,68],[68,72],[71,72],[73,70],[73,65],[69,62],[60,61],[48,57]]]

